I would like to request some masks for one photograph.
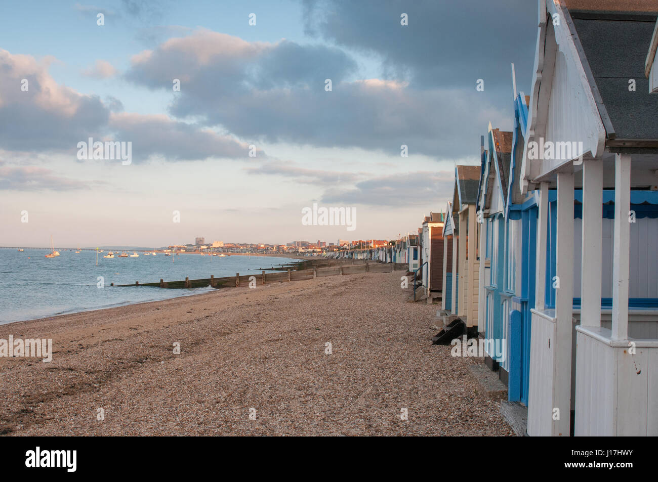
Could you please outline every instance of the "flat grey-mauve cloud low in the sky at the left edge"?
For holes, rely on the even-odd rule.
[[[0,163],[0,190],[3,191],[72,191],[91,189],[98,185],[57,176],[50,169],[39,166],[6,166]]]

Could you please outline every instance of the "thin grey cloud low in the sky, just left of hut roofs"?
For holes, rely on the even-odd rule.
[[[436,204],[442,199],[438,193],[451,195],[455,173],[420,171],[407,174],[380,176],[357,183],[354,189],[328,189],[323,203],[409,206]]]

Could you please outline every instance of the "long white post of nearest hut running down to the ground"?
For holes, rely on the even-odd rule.
[[[574,176],[557,174],[557,247],[555,249],[555,378],[553,435],[569,437],[571,418],[571,339],[574,296]],[[559,284],[558,284],[559,283]]]

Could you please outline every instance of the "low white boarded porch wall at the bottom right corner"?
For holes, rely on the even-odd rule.
[[[576,327],[575,435],[658,435],[658,341],[611,341],[609,329]]]

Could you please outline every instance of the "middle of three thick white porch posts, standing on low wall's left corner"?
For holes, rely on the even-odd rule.
[[[582,166],[582,262],[580,324],[601,326],[601,262],[603,245],[603,161]]]

